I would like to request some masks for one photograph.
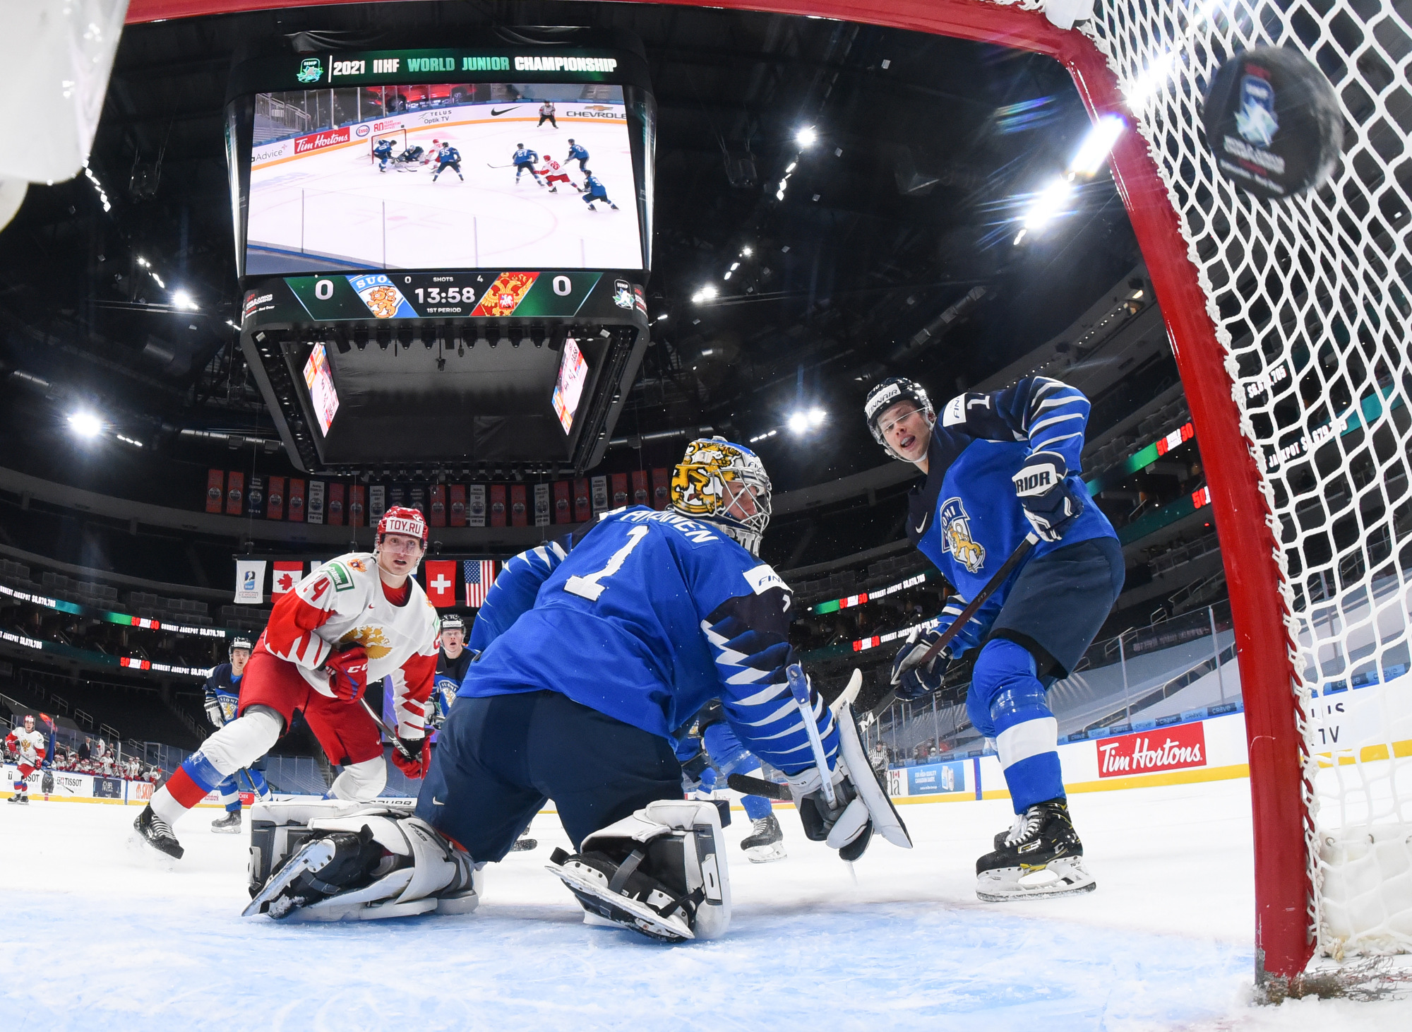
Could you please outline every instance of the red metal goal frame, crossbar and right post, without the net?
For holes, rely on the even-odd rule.
[[[340,1],[131,0],[127,21]],[[1269,527],[1269,506],[1251,442],[1241,433],[1240,410],[1226,370],[1226,349],[1207,314],[1207,297],[1196,266],[1186,256],[1178,212],[1106,58],[1091,40],[1079,31],[1058,28],[1041,11],[984,0],[888,0],[885,4],[875,0],[652,1],[822,16],[1045,54],[1073,76],[1093,119],[1120,115],[1132,129],[1114,144],[1110,168],[1147,262],[1192,418],[1203,441],[1202,461],[1230,584],[1250,752],[1255,868],[1260,872],[1255,879],[1255,974],[1257,981],[1298,977],[1315,950],[1309,930],[1312,882],[1305,844],[1303,737],[1296,724],[1295,669],[1284,621],[1282,575]]]

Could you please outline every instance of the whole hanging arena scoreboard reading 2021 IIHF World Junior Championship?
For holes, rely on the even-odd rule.
[[[294,464],[583,472],[647,348],[640,48],[285,54],[232,72],[241,348]]]

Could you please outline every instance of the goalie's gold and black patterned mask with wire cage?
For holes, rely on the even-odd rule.
[[[750,448],[724,437],[698,437],[672,471],[672,508],[719,524],[758,556],[770,524],[770,476]]]

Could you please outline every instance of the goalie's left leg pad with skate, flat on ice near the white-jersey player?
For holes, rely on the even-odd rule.
[[[371,920],[469,913],[480,902],[480,865],[425,821],[391,807],[257,804],[251,841],[246,915]]]

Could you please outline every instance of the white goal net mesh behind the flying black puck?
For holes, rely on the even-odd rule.
[[[1099,0],[1080,28],[1180,216],[1275,513],[1319,950],[1412,950],[1412,30],[1387,0]],[[1319,65],[1346,122],[1333,178],[1284,202],[1237,191],[1200,129],[1257,45]]]

